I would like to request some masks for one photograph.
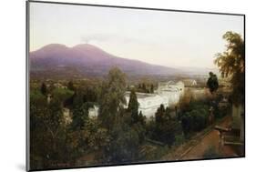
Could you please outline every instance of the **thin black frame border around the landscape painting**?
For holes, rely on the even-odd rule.
[[[201,158],[201,159],[186,159],[186,160],[159,160],[149,162],[138,162],[138,163],[120,163],[120,164],[108,164],[108,165],[93,165],[93,166],[82,166],[82,167],[57,167],[57,168],[45,168],[45,169],[30,169],[30,135],[29,135],[29,47],[30,47],[30,3],[39,4],[55,4],[55,5],[84,5],[84,6],[97,6],[97,7],[110,7],[110,8],[125,8],[125,9],[138,9],[138,10],[153,10],[153,11],[167,11],[167,12],[180,12],[180,13],[193,13],[193,14],[204,14],[204,15],[237,15],[243,17],[243,36],[244,36],[244,56],[245,56],[245,73],[244,73],[244,154],[241,157],[216,157],[216,158]],[[165,8],[150,8],[150,7],[136,7],[136,6],[122,6],[122,5],[96,5],[96,4],[82,4],[82,3],[67,3],[67,2],[53,2],[53,1],[38,1],[38,0],[26,0],[26,171],[47,171],[47,170],[61,170],[61,169],[77,169],[77,168],[90,168],[90,167],[119,167],[128,165],[147,165],[147,164],[160,164],[170,162],[189,162],[189,161],[204,161],[204,160],[219,160],[219,159],[232,159],[246,157],[246,15],[235,14],[235,13],[219,13],[209,11],[190,11],[190,10],[177,10],[177,9],[165,9]]]

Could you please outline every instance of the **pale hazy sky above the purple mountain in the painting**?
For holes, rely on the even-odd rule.
[[[30,51],[88,43],[151,64],[214,67],[229,30],[243,36],[243,17],[30,3]]]

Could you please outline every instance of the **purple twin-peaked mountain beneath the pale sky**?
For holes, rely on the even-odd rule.
[[[67,47],[60,44],[44,46],[29,53],[30,74],[33,76],[105,76],[118,66],[128,76],[175,75],[180,71],[108,54],[88,44]]]

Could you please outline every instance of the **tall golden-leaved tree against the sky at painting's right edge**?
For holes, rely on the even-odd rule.
[[[221,76],[230,78],[232,84],[232,101],[235,105],[244,103],[245,94],[245,49],[241,35],[231,31],[223,35],[227,49],[216,56],[214,63],[219,66]]]

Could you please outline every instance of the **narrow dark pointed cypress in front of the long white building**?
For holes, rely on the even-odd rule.
[[[131,123],[138,123],[138,99],[134,89],[131,90],[129,95],[128,112],[131,113]]]

